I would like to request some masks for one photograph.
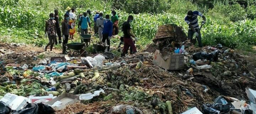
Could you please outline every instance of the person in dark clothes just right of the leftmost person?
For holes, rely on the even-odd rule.
[[[61,43],[61,26],[59,23],[59,16],[58,16],[58,10],[55,9],[54,10],[54,20],[56,21],[56,32],[57,32],[57,37],[58,37],[58,41],[57,38],[55,38],[55,44],[60,44]]]

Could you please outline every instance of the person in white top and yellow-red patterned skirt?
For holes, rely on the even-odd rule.
[[[75,34],[75,19],[76,19],[75,8],[71,8],[71,12],[69,15],[69,20],[68,20],[71,39],[73,39],[73,36]]]

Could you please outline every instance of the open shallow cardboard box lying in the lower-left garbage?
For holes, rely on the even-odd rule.
[[[69,104],[73,104],[73,103],[78,102],[78,98],[79,98],[78,95],[73,95],[73,94],[70,94],[70,93],[66,93],[66,94],[58,96],[57,98],[54,98],[53,100],[47,102],[47,104],[52,106],[55,102],[60,101],[61,102],[60,105],[52,106],[52,108],[55,111],[59,111],[59,110],[65,109],[66,106],[69,105]]]

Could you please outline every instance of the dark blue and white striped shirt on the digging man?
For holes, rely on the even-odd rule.
[[[185,22],[187,24],[192,24],[192,26],[197,29],[199,28],[199,24],[198,24],[198,16],[202,17],[203,14],[201,14],[199,11],[193,11],[193,16],[192,16],[192,19],[189,19],[188,16],[185,17]]]

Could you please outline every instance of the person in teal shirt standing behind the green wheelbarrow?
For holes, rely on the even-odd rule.
[[[78,29],[81,26],[81,35],[88,34],[88,24],[90,27],[90,31],[92,31],[90,18],[87,16],[86,12],[83,13],[83,16],[79,19]]]

